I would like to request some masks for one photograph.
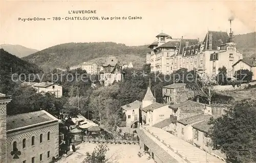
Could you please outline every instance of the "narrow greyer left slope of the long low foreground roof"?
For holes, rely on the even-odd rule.
[[[150,137],[148,137],[143,130],[138,130],[140,141],[143,142],[162,162],[164,163],[178,163],[178,161],[170,156],[158,144],[156,144]]]

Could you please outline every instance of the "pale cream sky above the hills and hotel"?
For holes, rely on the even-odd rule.
[[[69,14],[96,10],[96,14]],[[256,30],[255,1],[0,1],[0,44],[43,50],[67,42],[117,42],[144,45],[163,32],[173,38],[199,38],[209,31],[234,35]],[[65,17],[129,17],[135,20],[65,20]],[[18,18],[51,18],[21,21]],[[64,19],[53,20],[52,17]]]

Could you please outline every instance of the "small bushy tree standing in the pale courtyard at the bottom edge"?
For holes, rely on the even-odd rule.
[[[92,154],[86,153],[86,158],[84,158],[82,163],[103,163],[107,151],[109,151],[107,145],[99,144],[94,148]]]

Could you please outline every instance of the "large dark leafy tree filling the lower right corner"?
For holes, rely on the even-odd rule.
[[[211,119],[210,137],[229,162],[256,162],[256,101],[234,104],[225,115]],[[244,150],[244,151],[242,151]]]

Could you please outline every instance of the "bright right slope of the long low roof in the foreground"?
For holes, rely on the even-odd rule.
[[[165,143],[166,145],[169,145],[170,148],[177,151],[178,154],[186,157],[186,159],[189,162],[203,163],[203,162],[205,162],[206,158],[208,159],[209,162],[214,162],[214,163],[225,162],[225,161],[222,161],[221,159],[219,159],[215,156],[212,156],[210,154],[206,155],[205,151],[191,145],[190,143],[188,143],[186,141],[183,141],[182,139],[168,133],[167,131],[164,131],[163,129],[151,127],[151,126],[146,126],[146,128],[149,131],[144,131],[144,132],[148,132],[148,133],[152,132],[154,135],[158,136],[159,139],[162,139],[163,143]]]

